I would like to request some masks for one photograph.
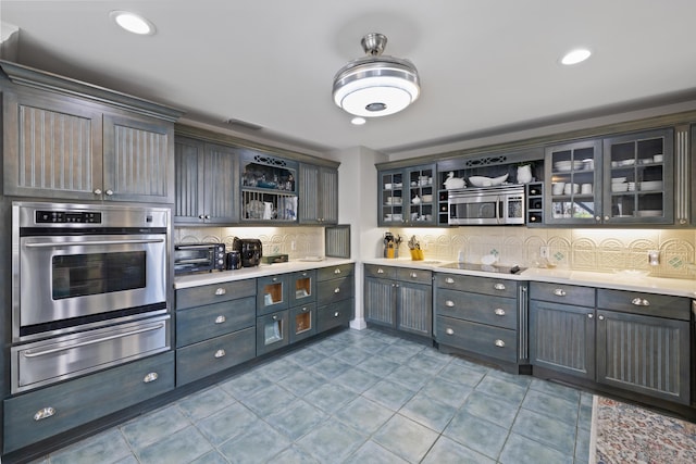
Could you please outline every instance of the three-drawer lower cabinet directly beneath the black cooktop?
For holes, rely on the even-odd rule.
[[[525,283],[435,274],[435,339],[440,350],[517,365],[526,361]],[[504,367],[506,367],[504,365]]]

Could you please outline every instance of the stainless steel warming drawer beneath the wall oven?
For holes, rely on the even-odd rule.
[[[170,316],[12,347],[12,393],[170,349]]]

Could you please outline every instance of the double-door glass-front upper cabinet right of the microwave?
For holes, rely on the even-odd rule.
[[[545,223],[671,224],[673,131],[548,147]]]

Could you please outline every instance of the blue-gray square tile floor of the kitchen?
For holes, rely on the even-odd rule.
[[[592,394],[344,330],[37,463],[587,463]]]

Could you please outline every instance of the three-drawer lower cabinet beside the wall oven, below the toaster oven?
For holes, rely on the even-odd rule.
[[[176,290],[177,386],[256,356],[256,279]]]

